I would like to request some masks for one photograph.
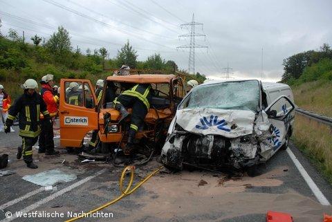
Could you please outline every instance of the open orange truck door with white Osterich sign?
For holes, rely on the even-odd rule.
[[[61,80],[59,125],[62,147],[81,147],[86,133],[98,129],[98,103],[93,89],[90,80]]]

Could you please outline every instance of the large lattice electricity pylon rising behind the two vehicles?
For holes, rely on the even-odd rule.
[[[192,14],[192,22],[181,24],[181,28],[183,26],[191,26],[190,34],[180,35],[179,37],[190,37],[190,44],[178,46],[178,48],[189,48],[189,61],[188,61],[188,73],[195,73],[195,48],[208,48],[208,46],[201,46],[195,44],[195,36],[203,37],[205,35],[195,33],[195,26],[202,26],[203,24],[194,21],[194,14]]]

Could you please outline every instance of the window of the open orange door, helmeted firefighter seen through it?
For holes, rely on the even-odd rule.
[[[66,103],[83,107],[83,91],[80,82],[65,82]]]

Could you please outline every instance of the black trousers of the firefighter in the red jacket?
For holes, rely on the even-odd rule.
[[[53,122],[49,119],[43,119],[40,122],[39,152],[54,150]]]

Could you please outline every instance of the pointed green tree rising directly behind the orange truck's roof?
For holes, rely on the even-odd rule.
[[[136,59],[137,59],[137,51],[133,50],[133,46],[129,45],[129,40],[127,44],[118,50],[118,55],[116,56],[118,67],[122,65],[127,65],[130,68],[136,68]]]

